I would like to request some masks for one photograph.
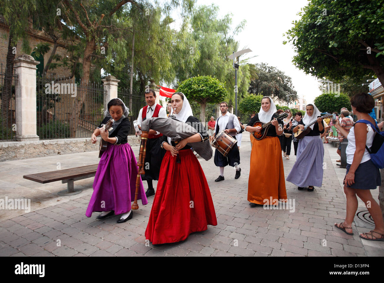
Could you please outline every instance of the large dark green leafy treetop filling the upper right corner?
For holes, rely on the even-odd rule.
[[[286,32],[296,67],[334,80],[376,75],[384,85],[384,0],[312,0],[298,15]]]

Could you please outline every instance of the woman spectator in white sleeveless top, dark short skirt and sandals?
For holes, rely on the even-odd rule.
[[[379,168],[372,162],[367,148],[371,148],[376,131],[371,128],[378,126],[382,131],[383,123],[376,124],[374,119],[369,116],[375,106],[374,99],[367,93],[356,94],[351,98],[353,114],[357,115],[358,121],[349,133],[340,126],[336,120],[334,126],[344,136],[348,136],[347,154],[347,173],[344,178],[344,193],[347,198],[347,214],[343,223],[334,225],[343,230],[348,235],[353,235],[352,221],[358,208],[356,195],[365,203],[372,219],[375,229],[368,233],[360,234],[360,238],[372,241],[384,241],[384,221],[379,204],[372,197],[371,189],[376,189],[381,185]],[[359,120],[361,120],[359,122]],[[368,205],[369,204],[369,205]]]

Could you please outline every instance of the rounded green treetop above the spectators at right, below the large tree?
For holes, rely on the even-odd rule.
[[[324,93],[314,99],[314,104],[320,112],[340,112],[340,109],[346,107],[351,111],[351,102],[349,102],[348,94],[340,93],[337,94]]]

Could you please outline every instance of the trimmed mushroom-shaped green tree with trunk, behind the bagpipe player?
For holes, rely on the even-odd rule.
[[[220,103],[227,96],[225,83],[211,76],[197,76],[184,80],[177,89],[188,99],[195,100],[201,105],[200,121],[205,125],[205,107],[207,103]]]

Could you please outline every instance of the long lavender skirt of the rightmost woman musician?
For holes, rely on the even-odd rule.
[[[324,146],[320,136],[303,137],[298,144],[296,163],[286,181],[298,187],[323,184]]]

